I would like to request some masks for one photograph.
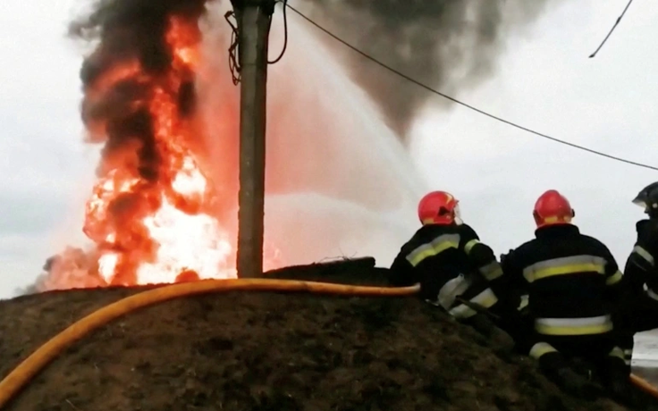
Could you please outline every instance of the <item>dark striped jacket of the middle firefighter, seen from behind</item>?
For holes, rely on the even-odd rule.
[[[571,224],[536,230],[502,261],[510,287],[527,289],[536,331],[582,335],[612,331],[622,274],[608,247]]]

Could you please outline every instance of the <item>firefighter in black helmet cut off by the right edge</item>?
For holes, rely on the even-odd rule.
[[[633,204],[649,218],[636,224],[637,240],[624,269],[626,295],[618,322],[624,326],[622,343],[627,364],[633,355],[633,335],[658,328],[658,182],[640,190]]]

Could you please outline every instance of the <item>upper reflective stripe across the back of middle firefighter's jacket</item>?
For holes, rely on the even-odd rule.
[[[555,275],[573,273],[605,273],[605,259],[600,256],[568,256],[540,261],[527,266],[523,276],[533,282]]]

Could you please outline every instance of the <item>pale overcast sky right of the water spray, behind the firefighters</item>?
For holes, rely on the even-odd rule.
[[[578,4],[576,4],[578,3]],[[564,2],[513,38],[499,73],[463,101],[611,155],[658,166],[658,9],[635,2],[594,58],[627,0]],[[440,98],[437,96],[437,98]],[[428,114],[412,153],[427,179],[461,198],[464,219],[498,253],[533,236],[546,189],[569,197],[581,230],[625,264],[644,214],[630,201],[658,172],[494,122],[466,108]]]

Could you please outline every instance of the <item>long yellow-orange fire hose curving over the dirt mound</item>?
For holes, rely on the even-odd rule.
[[[39,347],[0,382],[0,407],[4,407],[55,356],[65,348],[70,347],[75,341],[80,340],[90,331],[94,331],[106,323],[132,311],[136,311],[139,308],[153,306],[173,298],[233,290],[301,291],[316,294],[393,297],[416,294],[418,293],[418,289],[420,289],[418,285],[403,288],[386,288],[272,279],[204,280],[149,289],[148,291],[122,298],[108,306],[99,308],[97,311],[73,323],[64,331],[55,335],[51,340],[48,340],[46,344]]]

